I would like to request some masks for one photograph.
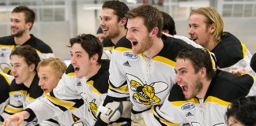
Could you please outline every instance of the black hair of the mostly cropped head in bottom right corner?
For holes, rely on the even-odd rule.
[[[256,126],[256,96],[239,98],[228,106],[226,118],[234,117],[243,125]]]

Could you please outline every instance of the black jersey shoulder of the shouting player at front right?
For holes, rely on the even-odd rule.
[[[217,70],[209,87],[209,95],[232,102],[235,98],[246,96],[253,83],[254,78],[250,75],[235,76],[230,72]]]

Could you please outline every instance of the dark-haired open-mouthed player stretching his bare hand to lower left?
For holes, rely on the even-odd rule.
[[[96,120],[97,109],[104,100],[108,89],[109,61],[100,60],[103,46],[94,35],[81,34],[70,39],[71,63],[58,82],[57,87],[43,98],[36,100],[21,113],[9,117],[3,125],[11,122],[21,124],[24,119],[36,123],[51,117],[62,116],[67,110],[82,108],[72,115],[73,124],[61,120],[67,125],[93,125]],[[81,121],[82,120],[82,121]],[[83,121],[85,120],[85,121]],[[124,122],[122,118],[119,122]],[[130,120],[127,120],[130,121]]]

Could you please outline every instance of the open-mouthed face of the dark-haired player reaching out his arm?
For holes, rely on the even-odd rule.
[[[88,76],[92,72],[92,59],[81,47],[80,43],[74,43],[71,47],[71,64],[73,65],[74,72],[78,78]]]

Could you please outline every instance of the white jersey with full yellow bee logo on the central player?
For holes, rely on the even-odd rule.
[[[175,57],[179,50],[191,48],[181,39],[163,35],[164,48],[155,57],[134,55],[130,41],[120,39],[112,51],[109,101],[130,98],[134,104],[132,112],[141,113],[151,106],[161,105],[175,84]]]

